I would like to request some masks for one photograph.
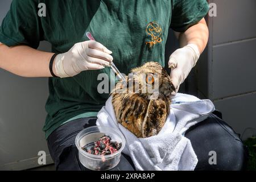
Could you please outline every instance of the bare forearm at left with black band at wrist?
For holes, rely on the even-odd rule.
[[[23,77],[51,77],[52,55],[28,46],[7,47],[0,43],[0,68]]]

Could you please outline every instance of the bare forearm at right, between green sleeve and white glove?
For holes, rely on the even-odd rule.
[[[199,48],[199,52],[202,53],[207,46],[209,38],[209,30],[205,19],[201,19],[197,24],[189,27],[185,32],[175,32],[177,38],[179,38],[180,47],[187,46],[187,44],[196,44]]]

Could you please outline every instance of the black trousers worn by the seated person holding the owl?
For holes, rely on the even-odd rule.
[[[75,138],[81,130],[95,125],[96,118],[81,118],[53,131],[47,143],[56,170],[88,170],[79,162]],[[199,160],[195,170],[233,171],[246,168],[247,149],[239,135],[216,115],[210,114],[205,121],[192,126],[185,137],[191,140]],[[134,170],[130,157],[122,154],[120,163],[112,170],[117,169]]]

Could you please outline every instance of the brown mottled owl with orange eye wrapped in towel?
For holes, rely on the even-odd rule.
[[[170,113],[175,90],[167,71],[156,62],[131,70],[127,84],[119,81],[112,91],[112,104],[118,123],[138,138],[159,133]]]

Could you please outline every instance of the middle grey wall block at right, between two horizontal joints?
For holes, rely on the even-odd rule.
[[[214,100],[255,91],[256,38],[213,46],[212,69]]]

